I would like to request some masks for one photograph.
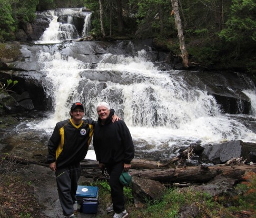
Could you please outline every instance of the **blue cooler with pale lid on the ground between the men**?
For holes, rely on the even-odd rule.
[[[97,213],[98,210],[98,187],[78,185],[76,190],[76,199],[80,212]]]

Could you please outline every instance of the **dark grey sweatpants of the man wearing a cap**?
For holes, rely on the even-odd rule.
[[[77,181],[81,175],[80,163],[57,169],[56,182],[58,198],[60,199],[64,216],[74,213],[73,204],[76,201]]]

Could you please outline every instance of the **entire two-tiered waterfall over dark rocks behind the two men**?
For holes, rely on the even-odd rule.
[[[72,14],[77,12],[83,13],[84,26],[80,31],[86,36],[90,31],[90,12],[81,12],[81,8],[58,9],[44,13],[53,19],[36,44],[77,38],[72,19]],[[208,93],[206,77],[196,80],[199,72],[159,70],[156,67],[159,63],[152,62],[159,54],[149,46],[135,50],[136,46],[131,41],[38,46],[41,49],[36,54],[38,64],[46,75],[42,85],[46,97],[53,102],[53,110],[48,119],[27,126],[51,134],[56,122],[70,117],[70,107],[76,101],[83,103],[85,118],[96,120],[95,106],[104,100],[129,127],[137,153],[157,151],[170,157],[174,145],[230,140],[255,142],[253,125],[249,128],[246,120],[254,123],[256,116],[254,85],[240,89],[239,94],[247,98],[235,101],[238,112],[242,113],[244,102],[249,99],[250,115],[225,114],[213,94],[223,96],[214,87],[209,87],[213,94]],[[238,92],[227,88],[232,94]]]

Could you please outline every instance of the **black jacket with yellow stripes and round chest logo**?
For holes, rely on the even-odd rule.
[[[91,119],[82,120],[78,126],[72,119],[58,122],[48,142],[47,162],[56,161],[56,167],[62,168],[82,161],[92,140],[94,123]]]

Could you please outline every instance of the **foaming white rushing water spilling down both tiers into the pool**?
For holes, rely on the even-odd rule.
[[[56,38],[59,29],[54,18],[40,43],[56,43],[60,40]],[[85,32],[86,29],[85,26]],[[46,73],[43,86],[45,95],[53,100],[53,112],[47,119],[21,123],[17,131],[40,131],[49,137],[55,123],[69,117],[72,102],[81,101],[86,118],[97,119],[95,105],[105,100],[126,122],[137,152],[159,152],[164,157],[170,155],[173,146],[189,146],[193,142],[256,142],[256,134],[238,119],[255,119],[255,87],[243,90],[251,100],[250,115],[224,114],[212,95],[190,84],[185,77],[188,72],[157,70],[145,53],[105,54],[92,69],[90,63],[67,57],[61,51],[40,51],[38,59]],[[110,79],[103,82],[91,79],[92,75]],[[103,85],[104,89],[99,88]]]

